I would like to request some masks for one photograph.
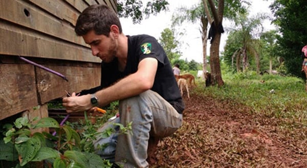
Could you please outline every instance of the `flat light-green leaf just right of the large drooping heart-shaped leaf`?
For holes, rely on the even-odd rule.
[[[41,147],[36,156],[31,161],[42,161],[49,158],[60,157],[60,153],[52,148]]]

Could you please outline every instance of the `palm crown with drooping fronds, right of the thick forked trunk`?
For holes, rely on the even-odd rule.
[[[236,63],[237,72],[250,69],[252,65],[250,63],[253,61],[255,70],[259,73],[259,36],[263,30],[262,21],[266,18],[267,15],[261,13],[251,17],[248,13],[241,13],[234,19],[236,27],[230,31],[224,58],[232,68],[234,68],[233,64]]]

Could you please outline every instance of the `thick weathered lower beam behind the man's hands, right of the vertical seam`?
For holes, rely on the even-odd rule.
[[[40,104],[65,96],[65,90],[70,93],[80,92],[100,85],[100,64],[87,64],[86,67],[84,65],[82,67],[76,62],[75,66],[47,65],[46,67],[65,75],[69,81],[36,68],[35,74]]]

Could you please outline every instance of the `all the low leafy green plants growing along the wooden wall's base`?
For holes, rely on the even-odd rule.
[[[115,130],[98,133],[96,126],[87,120],[86,113],[85,121],[80,136],[70,125],[60,126],[53,118],[33,119],[31,122],[27,117],[17,118],[14,124],[4,125],[7,131],[0,140],[0,162],[18,161],[15,167],[31,167],[29,165],[36,161],[44,161],[48,167],[111,167],[108,160],[93,153],[93,140],[97,134],[107,137]],[[131,130],[131,124],[128,127],[119,126],[120,133]],[[32,129],[39,128],[54,128],[57,134],[31,133]]]

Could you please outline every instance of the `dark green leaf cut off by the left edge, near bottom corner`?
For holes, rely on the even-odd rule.
[[[18,153],[13,143],[5,143],[0,140],[0,160],[14,161],[18,159]]]

